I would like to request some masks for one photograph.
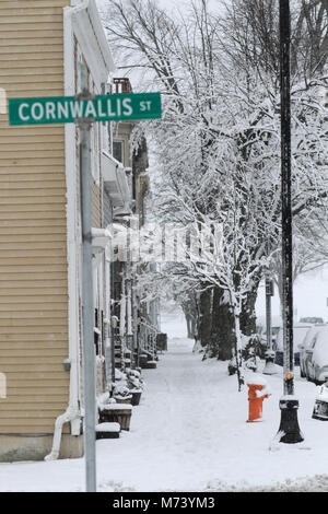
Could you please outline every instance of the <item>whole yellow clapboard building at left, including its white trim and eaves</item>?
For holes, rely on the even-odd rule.
[[[1,1],[0,16],[0,86],[9,98],[75,95],[80,65],[90,91],[106,92],[114,62],[93,0]],[[7,386],[0,399],[0,460],[83,452],[78,148],[72,124],[20,128],[0,117],[0,373]],[[118,168],[110,127],[94,124],[98,394],[106,387],[110,315],[106,226],[113,206],[122,206],[129,194]]]

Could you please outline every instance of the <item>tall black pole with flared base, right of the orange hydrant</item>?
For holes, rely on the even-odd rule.
[[[293,234],[291,180],[291,91],[290,91],[290,1],[279,2],[280,95],[281,95],[281,224],[282,224],[282,315],[283,396],[280,399],[281,443],[303,441],[297,421],[298,400],[294,397],[293,349]]]

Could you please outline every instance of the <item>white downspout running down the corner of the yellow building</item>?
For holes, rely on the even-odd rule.
[[[63,9],[63,60],[65,94],[74,95],[74,47],[71,16],[75,9]],[[81,434],[81,411],[79,401],[80,384],[80,338],[79,338],[79,289],[78,289],[78,242],[77,220],[77,174],[75,174],[75,127],[65,127],[66,141],[66,180],[67,180],[67,252],[68,252],[68,292],[69,292],[69,362],[70,397],[67,410],[56,419],[52,448],[45,460],[59,457],[62,427],[71,422],[71,435]]]

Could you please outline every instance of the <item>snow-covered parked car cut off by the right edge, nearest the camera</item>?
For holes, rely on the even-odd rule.
[[[323,384],[328,379],[328,326],[323,326],[314,336],[307,362],[307,379]]]

